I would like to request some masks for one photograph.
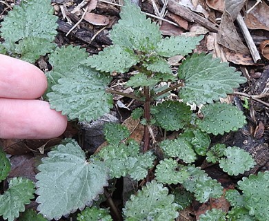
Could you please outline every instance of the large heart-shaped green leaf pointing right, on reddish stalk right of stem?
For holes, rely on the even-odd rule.
[[[219,97],[227,97],[246,78],[240,77],[235,68],[228,63],[220,63],[220,59],[212,59],[212,55],[200,54],[187,57],[179,66],[179,78],[184,86],[180,90],[180,98],[185,103],[212,104]]]

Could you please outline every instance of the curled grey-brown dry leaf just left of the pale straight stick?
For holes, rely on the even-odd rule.
[[[234,52],[249,54],[248,48],[242,43],[232,17],[228,12],[224,12],[221,17],[221,24],[217,35],[217,42]]]

